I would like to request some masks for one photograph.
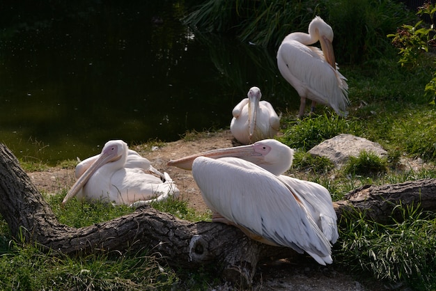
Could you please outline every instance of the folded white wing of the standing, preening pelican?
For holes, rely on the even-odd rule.
[[[345,77],[325,61],[320,49],[285,39],[277,52],[277,65],[300,96],[328,104],[339,115],[346,114],[350,103],[348,84]]]

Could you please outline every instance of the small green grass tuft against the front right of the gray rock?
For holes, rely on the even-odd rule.
[[[375,152],[362,150],[357,157],[350,157],[343,168],[345,174],[377,175],[387,171],[387,158],[379,157]]]

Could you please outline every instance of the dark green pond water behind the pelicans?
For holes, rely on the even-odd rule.
[[[275,50],[194,33],[183,1],[118,2],[3,7],[0,142],[17,157],[56,164],[110,139],[228,128],[251,86],[277,111],[299,106]]]

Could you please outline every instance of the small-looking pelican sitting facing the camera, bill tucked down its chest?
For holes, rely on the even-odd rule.
[[[279,116],[270,102],[260,101],[262,93],[258,87],[251,87],[247,97],[232,111],[230,130],[233,136],[244,145],[271,139],[280,129]]]

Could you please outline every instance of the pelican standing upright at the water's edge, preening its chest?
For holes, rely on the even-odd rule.
[[[311,47],[320,41],[321,49]],[[348,84],[338,71],[333,52],[333,30],[321,17],[309,24],[309,34],[294,32],[283,39],[277,52],[277,65],[283,78],[291,84],[300,97],[299,118],[304,115],[306,98],[327,104],[340,116],[348,112]]]

